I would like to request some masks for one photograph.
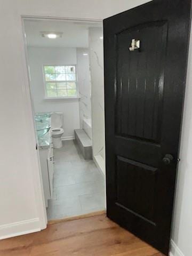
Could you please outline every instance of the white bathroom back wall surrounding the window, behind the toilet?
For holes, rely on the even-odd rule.
[[[28,47],[27,50],[35,113],[61,111],[63,113],[63,137],[74,137],[74,129],[79,128],[78,99],[45,99],[43,65],[76,65],[76,48]]]

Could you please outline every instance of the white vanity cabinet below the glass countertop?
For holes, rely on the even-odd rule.
[[[53,144],[50,136],[49,146],[39,147],[39,156],[41,163],[43,189],[45,196],[45,205],[48,206],[48,200],[53,196],[53,173],[54,173],[54,156]]]

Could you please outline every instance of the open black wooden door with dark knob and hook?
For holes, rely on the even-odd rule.
[[[156,0],[104,20],[107,216],[165,254],[190,7]]]

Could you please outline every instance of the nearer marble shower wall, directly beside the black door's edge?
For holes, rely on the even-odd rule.
[[[104,74],[103,31],[100,27],[89,28],[89,55],[91,70],[93,155],[104,159]]]

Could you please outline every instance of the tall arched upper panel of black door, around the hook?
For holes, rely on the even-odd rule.
[[[148,22],[116,35],[116,134],[157,142],[161,138],[167,22]],[[132,39],[139,51],[130,51]]]

